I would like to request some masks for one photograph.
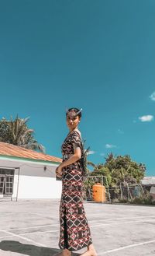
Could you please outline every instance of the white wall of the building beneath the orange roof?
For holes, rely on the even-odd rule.
[[[55,178],[57,164],[0,160],[0,167],[15,168],[12,198],[60,198],[62,184]]]

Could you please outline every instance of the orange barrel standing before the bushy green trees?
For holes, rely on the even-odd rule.
[[[95,202],[105,202],[105,186],[97,183],[92,186],[92,195]]]

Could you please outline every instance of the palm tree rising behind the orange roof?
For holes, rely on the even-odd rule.
[[[4,117],[0,120],[0,141],[22,146],[26,149],[39,150],[45,153],[43,145],[39,144],[34,138],[34,130],[27,126],[27,118],[15,117],[15,120],[6,120]]]

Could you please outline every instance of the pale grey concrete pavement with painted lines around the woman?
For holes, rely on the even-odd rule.
[[[0,256],[52,256],[59,251],[59,203],[1,201]],[[84,208],[98,256],[155,255],[154,206],[86,202]]]

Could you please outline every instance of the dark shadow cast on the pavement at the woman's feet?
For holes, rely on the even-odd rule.
[[[15,240],[3,240],[0,242],[0,249],[29,256],[53,256],[60,252],[57,248],[39,247],[33,244],[22,244]],[[80,255],[80,254],[75,254]]]

